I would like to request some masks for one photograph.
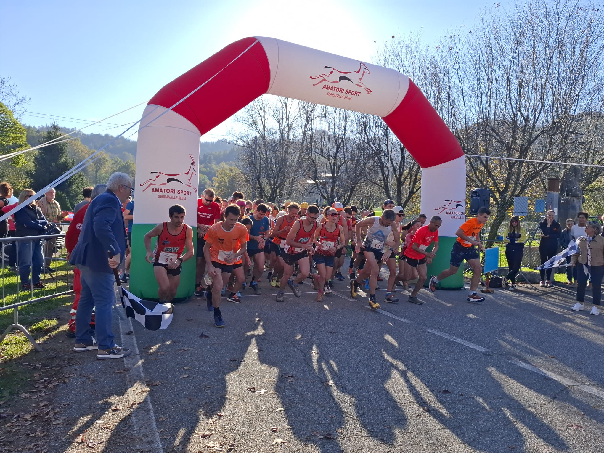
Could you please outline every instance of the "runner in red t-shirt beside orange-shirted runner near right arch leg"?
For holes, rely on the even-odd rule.
[[[441,224],[442,219],[439,216],[432,216],[428,225],[420,226],[419,230],[413,235],[411,245],[405,249],[407,264],[417,269],[417,283],[409,296],[411,303],[422,304],[416,296],[427,278],[426,263],[432,263],[432,259],[434,259],[436,252],[439,250],[439,228]],[[434,248],[428,252],[427,249],[432,242],[434,242]]]

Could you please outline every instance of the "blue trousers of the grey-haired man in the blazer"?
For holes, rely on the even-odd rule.
[[[111,330],[114,274],[92,271],[88,266],[79,266],[79,269],[82,291],[76,313],[76,343],[91,342],[92,333],[96,331],[98,349],[111,349],[115,345]],[[95,330],[90,328],[92,307],[95,307]]]

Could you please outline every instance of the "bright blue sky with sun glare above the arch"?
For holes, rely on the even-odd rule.
[[[62,126],[83,127],[60,117],[100,120],[147,101],[165,83],[242,37],[270,36],[371,61],[393,34],[414,31],[432,42],[494,5],[486,0],[304,5],[284,0],[0,0],[0,76],[10,76],[21,94],[31,97],[29,115],[51,117],[24,114],[24,123],[47,124],[54,118]],[[143,108],[108,122],[136,121]],[[229,127],[227,120],[202,140],[223,138]],[[124,129],[106,132],[117,135]]]

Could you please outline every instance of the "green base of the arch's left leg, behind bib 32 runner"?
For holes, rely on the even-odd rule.
[[[158,284],[153,274],[153,265],[145,261],[144,236],[152,230],[155,223],[135,223],[132,225],[132,262],[130,262],[130,292],[137,297],[157,300]],[[197,237],[197,228],[193,226],[193,238]],[[151,249],[155,247],[156,238],[151,240]],[[193,239],[193,246],[196,246]],[[196,251],[197,252],[197,251]],[[191,297],[195,291],[195,257],[182,263],[181,283],[176,292],[176,300]]]

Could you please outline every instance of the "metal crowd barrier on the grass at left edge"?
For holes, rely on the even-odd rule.
[[[45,257],[44,256],[44,252],[43,252],[43,248],[45,246],[45,240],[48,239],[56,239],[56,242],[59,246],[57,246],[57,248],[59,248],[58,252],[54,252],[52,257]],[[42,240],[42,272],[40,273],[40,281],[43,281],[43,283],[48,283],[48,280],[50,280],[52,283],[54,283],[54,285],[49,284],[48,286],[46,286],[45,284],[45,288],[42,289],[34,289],[30,287],[30,291],[27,293],[27,300],[24,300],[24,295],[22,294],[21,288],[22,288],[22,284],[24,282],[20,281],[20,276],[19,276],[19,247],[17,246],[18,243],[23,243],[23,242],[30,242],[30,257],[29,257],[29,262],[30,262],[30,273],[28,275],[31,276],[31,273],[33,271],[33,268],[31,266],[31,263],[33,263],[33,246],[31,246],[31,242],[33,241],[37,241],[37,240]],[[4,341],[5,336],[8,334],[8,332],[11,332],[11,330],[20,330],[25,337],[31,342],[31,344],[33,344],[33,346],[36,348],[36,350],[38,351],[42,351],[42,347],[40,347],[39,344],[37,344],[37,342],[34,340],[34,338],[31,336],[31,334],[27,331],[27,329],[22,326],[21,324],[19,324],[19,307],[25,306],[25,305],[29,305],[29,304],[33,304],[36,302],[42,302],[42,301],[46,301],[46,300],[50,300],[52,298],[55,297],[62,297],[62,296],[66,296],[66,295],[71,295],[74,294],[74,291],[71,289],[72,288],[72,282],[73,282],[73,268],[71,266],[69,266],[68,260],[66,258],[66,250],[63,248],[63,243],[65,240],[65,233],[61,233],[61,234],[49,234],[46,236],[24,236],[24,237],[3,237],[0,238],[0,251],[1,253],[1,258],[2,258],[2,268],[0,269],[1,272],[1,280],[2,280],[2,304],[0,304],[0,312],[4,311],[4,310],[13,310],[13,324],[11,324],[10,326],[7,327],[7,329],[4,330],[4,333],[2,333],[2,335],[0,336],[0,343],[2,341]],[[8,265],[13,265],[13,263],[8,263],[8,259],[10,259],[10,257],[8,257],[8,254],[5,253],[6,251],[6,245],[8,245],[9,243],[13,243],[13,246],[16,248],[15,250],[15,257],[16,257],[16,269],[13,271],[10,268],[8,268]],[[58,256],[57,256],[58,255]],[[51,261],[50,265],[47,265],[47,260]],[[61,263],[61,264],[59,264]],[[65,264],[63,264],[65,263]],[[52,265],[54,264],[54,268],[52,267]],[[55,271],[55,275],[51,274],[51,272],[45,272],[45,268],[50,267],[51,269],[54,269]],[[65,268],[64,268],[65,267]],[[64,269],[63,269],[64,268]],[[66,274],[62,274],[62,275],[58,275],[59,271],[61,272],[65,272]],[[48,276],[48,278],[46,278]],[[15,294],[7,294],[7,285],[8,286],[12,286],[13,283],[11,283],[11,281],[13,279],[15,279],[16,277],[16,289],[15,289]],[[65,280],[64,280],[65,279]],[[71,282],[71,284],[70,284]],[[29,281],[27,282],[29,283]],[[33,281],[31,282],[33,283]],[[53,290],[54,287],[54,291]],[[52,291],[52,292],[51,292]],[[39,295],[38,297],[34,297],[34,295]]]

